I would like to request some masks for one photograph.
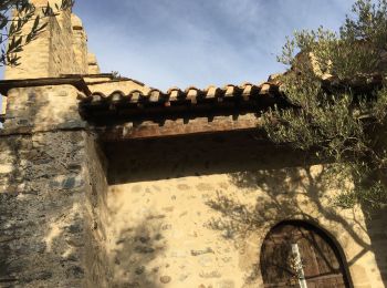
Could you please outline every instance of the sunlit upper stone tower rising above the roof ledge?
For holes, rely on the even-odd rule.
[[[46,6],[46,0],[31,1],[38,13]],[[50,0],[55,9],[61,0]],[[56,78],[64,74],[97,74],[100,73],[95,55],[87,52],[87,37],[82,21],[69,9],[56,17],[43,18],[46,29],[39,38],[19,53],[20,65],[6,69],[6,80]],[[25,33],[33,22],[24,27]]]

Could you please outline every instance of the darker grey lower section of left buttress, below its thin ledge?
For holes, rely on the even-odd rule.
[[[1,287],[95,287],[107,279],[96,225],[102,179],[86,156],[87,137],[0,138]]]

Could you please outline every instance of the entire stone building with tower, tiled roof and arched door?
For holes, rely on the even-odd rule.
[[[385,287],[386,214],[260,133],[274,78],[161,92],[46,21],[0,82],[0,287]]]

